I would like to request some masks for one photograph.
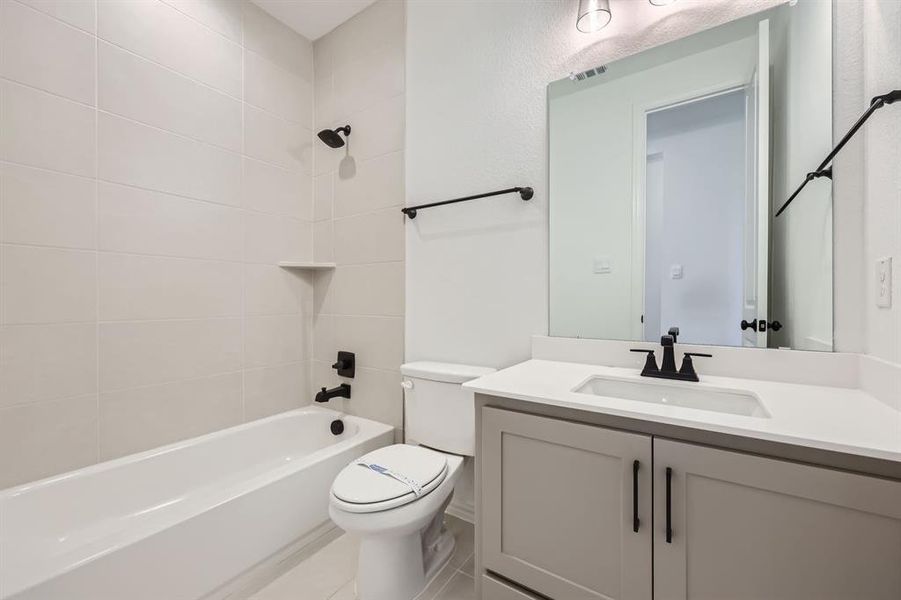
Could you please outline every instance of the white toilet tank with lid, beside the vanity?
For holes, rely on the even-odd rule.
[[[441,362],[401,365],[407,439],[435,450],[473,456],[475,399],[462,384],[494,371]]]

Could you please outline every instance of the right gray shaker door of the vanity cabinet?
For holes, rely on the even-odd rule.
[[[901,598],[901,482],[659,438],[654,461],[656,600]]]

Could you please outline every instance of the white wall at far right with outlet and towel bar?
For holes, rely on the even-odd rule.
[[[836,139],[877,95],[901,85],[901,4],[835,3]],[[901,363],[901,111],[877,112],[835,161],[836,349]],[[875,261],[894,257],[894,304],[878,308]]]

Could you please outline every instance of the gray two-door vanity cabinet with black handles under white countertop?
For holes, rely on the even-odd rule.
[[[478,456],[481,600],[901,598],[899,481],[493,407]]]

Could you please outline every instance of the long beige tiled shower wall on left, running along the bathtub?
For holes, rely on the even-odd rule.
[[[313,282],[275,264],[312,253],[312,81],[310,42],[237,0],[0,0],[0,488],[309,402]],[[402,173],[387,100],[341,105],[370,188]],[[324,304],[393,336],[361,352],[381,390],[402,246],[330,178],[355,244]]]

